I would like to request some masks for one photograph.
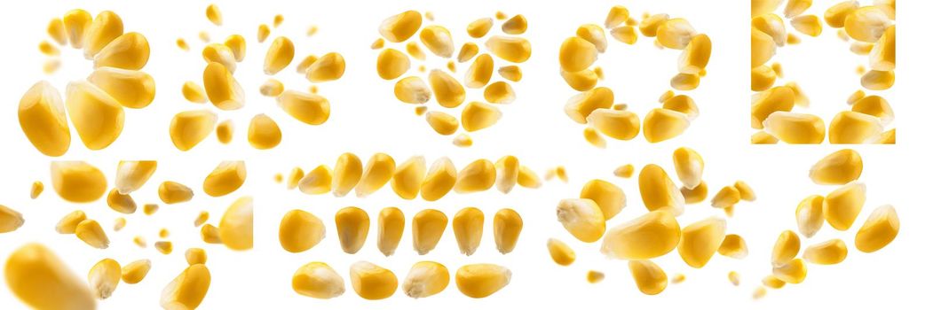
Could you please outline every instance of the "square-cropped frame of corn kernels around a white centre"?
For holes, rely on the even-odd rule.
[[[842,1],[829,7],[823,19],[804,15],[812,5],[809,0],[788,0],[784,17],[773,13],[781,1],[752,1],[751,22],[751,127],[758,130],[751,137],[756,144],[787,142],[793,144],[833,144],[896,142],[894,110],[882,94],[894,86],[895,5],[894,1],[875,1],[860,5]],[[852,42],[850,50],[868,58],[869,71],[859,65],[861,87],[846,100],[851,107],[832,116],[829,126],[820,115],[808,113],[810,99],[800,85],[787,82],[784,69],[773,61],[781,47],[801,44],[801,38],[787,31],[787,23],[800,34],[817,37],[825,22],[838,28],[838,36]],[[770,63],[769,63],[770,62]],[[841,97],[841,98],[844,98]],[[832,103],[835,104],[835,103]],[[802,111],[801,111],[802,110]]]

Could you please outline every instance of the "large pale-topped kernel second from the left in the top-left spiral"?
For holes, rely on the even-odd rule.
[[[106,148],[123,131],[123,106],[90,82],[68,83],[65,107],[81,142],[91,150]]]

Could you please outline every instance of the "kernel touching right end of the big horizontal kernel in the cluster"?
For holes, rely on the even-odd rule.
[[[712,217],[684,227],[677,252],[693,268],[703,268],[726,238],[726,220]]]

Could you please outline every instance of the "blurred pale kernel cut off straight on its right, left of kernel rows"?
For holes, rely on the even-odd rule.
[[[245,196],[233,201],[220,218],[217,233],[227,248],[253,249],[253,198]]]

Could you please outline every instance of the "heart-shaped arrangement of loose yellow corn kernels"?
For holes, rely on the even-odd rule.
[[[496,18],[504,20],[506,16],[499,12]],[[528,28],[528,21],[521,14],[515,15],[498,27],[502,34],[494,34],[497,21],[492,18],[470,22],[466,26],[469,38],[464,39],[456,52],[456,62],[454,37],[460,36],[439,24],[422,27],[428,21],[433,21],[433,14],[425,21],[414,10],[383,20],[379,27],[382,37],[372,44],[373,49],[380,51],[376,72],[384,80],[395,81],[397,100],[414,104],[415,114],[424,115],[427,125],[439,135],[451,136],[463,128],[466,132],[456,135],[453,144],[469,147],[473,141],[468,133],[494,126],[502,117],[499,106],[516,100],[513,85],[522,80],[518,64],[527,61],[532,51],[531,43],[520,36]],[[480,43],[483,38],[485,42]],[[433,60],[435,57],[440,61]],[[432,62],[437,62],[437,67],[429,68]],[[453,75],[457,74],[456,63],[465,62],[470,64],[461,82]],[[415,65],[417,69],[413,68]],[[481,100],[468,96],[480,89]],[[427,105],[432,99],[439,107]],[[460,109],[459,117],[451,113],[455,109]]]

